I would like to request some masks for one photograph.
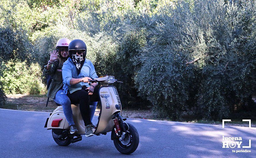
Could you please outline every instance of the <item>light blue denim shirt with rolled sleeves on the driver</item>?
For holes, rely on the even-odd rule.
[[[80,82],[73,86],[70,85],[70,80],[72,78],[83,78],[83,77],[98,78],[97,74],[95,73],[95,68],[93,66],[93,63],[89,59],[85,59],[85,63],[83,64],[81,72],[79,75],[77,75],[76,65],[73,63],[73,61],[70,58],[68,58],[68,60],[66,60],[62,66],[64,93],[67,94],[68,90],[70,91],[70,93],[73,93],[77,90],[82,89],[82,86],[89,87],[89,84],[84,82]]]

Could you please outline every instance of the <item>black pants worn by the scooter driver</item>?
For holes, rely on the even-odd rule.
[[[100,101],[99,99],[99,88],[94,88],[93,95],[88,95],[87,87],[82,87],[81,90],[77,90],[70,94],[68,91],[67,96],[71,103],[79,104],[80,112],[85,123],[85,126],[91,124],[91,113],[90,113],[90,101]]]

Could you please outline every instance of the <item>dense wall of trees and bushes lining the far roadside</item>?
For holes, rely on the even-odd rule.
[[[0,88],[42,93],[38,65],[47,63],[59,38],[79,38],[100,75],[124,82],[115,84],[123,107],[150,107],[173,120],[227,118],[255,108],[255,3],[1,1]]]

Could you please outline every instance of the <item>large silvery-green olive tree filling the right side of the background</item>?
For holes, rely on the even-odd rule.
[[[198,118],[222,119],[234,106],[252,106],[253,8],[248,1],[181,1],[169,14],[152,17],[135,82],[159,116],[180,119],[193,111]]]

